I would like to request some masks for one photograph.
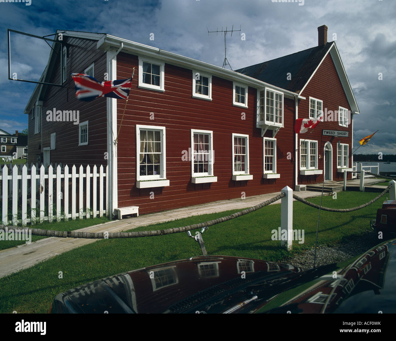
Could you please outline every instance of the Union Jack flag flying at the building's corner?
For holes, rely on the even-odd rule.
[[[132,86],[132,77],[116,81],[99,82],[83,73],[72,73],[76,97],[79,100],[91,101],[99,97],[128,98]]]

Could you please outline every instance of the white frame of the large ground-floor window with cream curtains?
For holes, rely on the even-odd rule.
[[[141,130],[157,130],[161,133],[161,156],[160,156],[160,174],[140,175],[140,131]],[[165,127],[158,125],[136,125],[136,180],[166,180],[166,131]],[[150,181],[149,181],[150,182]],[[150,187],[159,187],[157,183],[150,184]],[[169,180],[166,186],[169,185]],[[139,187],[143,188],[143,187]]]

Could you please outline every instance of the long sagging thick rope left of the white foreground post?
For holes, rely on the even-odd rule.
[[[37,236],[46,236],[46,237],[59,237],[59,238],[86,238],[86,239],[112,239],[112,238],[139,238],[139,237],[154,237],[159,235],[169,235],[172,233],[180,233],[187,232],[194,229],[202,229],[205,226],[212,226],[218,223],[227,222],[228,220],[238,218],[240,216],[244,216],[245,214],[251,213],[253,211],[259,210],[273,202],[283,198],[286,194],[281,193],[276,197],[268,199],[266,201],[261,202],[261,204],[257,204],[256,206],[252,206],[250,208],[246,208],[243,211],[239,211],[233,213],[229,216],[209,220],[208,222],[176,227],[173,229],[166,230],[157,230],[157,231],[137,231],[137,232],[78,232],[78,231],[54,231],[54,230],[44,230],[44,229],[28,229],[31,231],[32,235]],[[0,231],[5,230],[5,225],[0,225]],[[8,226],[7,226],[8,228]],[[11,230],[21,230],[18,227],[8,228],[8,231]]]

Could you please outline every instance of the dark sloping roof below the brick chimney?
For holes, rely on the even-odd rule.
[[[299,92],[332,45],[333,42],[327,42],[323,46],[315,46],[235,71],[282,89]],[[289,72],[290,80],[287,79],[290,78],[287,77]]]

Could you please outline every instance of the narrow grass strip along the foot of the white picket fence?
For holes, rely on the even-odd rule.
[[[55,231],[74,231],[76,229],[82,229],[83,227],[93,226],[97,224],[103,224],[109,222],[109,219],[106,216],[102,218],[90,218],[90,219],[79,219],[76,220],[67,220],[61,222],[44,222],[42,224],[37,224],[34,226],[27,226],[31,228],[38,228],[38,229],[46,229],[46,230],[55,230]],[[13,227],[13,226],[9,226]],[[42,236],[33,236],[32,235],[32,242],[38,241],[39,239],[48,238]],[[25,244],[25,241],[0,241],[0,250],[9,249],[10,247],[16,247],[17,245]]]

